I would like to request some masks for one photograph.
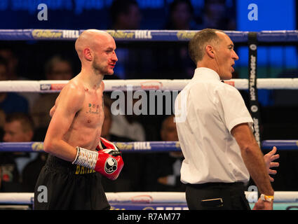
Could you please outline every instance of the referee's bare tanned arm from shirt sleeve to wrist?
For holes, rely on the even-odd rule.
[[[248,123],[236,125],[231,130],[231,134],[236,139],[245,166],[250,176],[257,184],[259,192],[264,195],[274,195],[273,188],[266,170],[264,155],[255,140]]]

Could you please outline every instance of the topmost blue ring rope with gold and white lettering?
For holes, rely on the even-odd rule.
[[[74,41],[83,32],[67,29],[0,29],[0,41]],[[116,41],[189,41],[198,30],[104,30]],[[234,43],[248,41],[249,31],[224,31]],[[297,30],[259,31],[259,42],[298,41]]]

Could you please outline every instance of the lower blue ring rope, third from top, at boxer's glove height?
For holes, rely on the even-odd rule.
[[[114,142],[123,153],[181,151],[179,141],[131,141]],[[297,150],[298,140],[262,141],[262,149]],[[0,152],[36,152],[43,151],[43,142],[4,142],[0,143]]]

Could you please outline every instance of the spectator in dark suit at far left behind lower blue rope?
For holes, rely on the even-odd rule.
[[[34,123],[31,116],[25,113],[12,113],[6,116],[4,123],[4,141],[6,142],[27,142],[34,140]],[[4,170],[6,179],[8,176],[17,176],[9,179],[8,182],[15,182],[15,185],[6,186],[11,191],[34,192],[34,186],[39,172],[46,162],[46,153],[5,153]],[[11,171],[11,173],[9,173]],[[18,179],[18,181],[17,181]],[[13,190],[14,189],[14,190]]]

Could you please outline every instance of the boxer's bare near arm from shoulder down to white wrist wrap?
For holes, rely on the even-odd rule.
[[[62,89],[59,97],[60,101],[55,106],[55,113],[50,120],[43,148],[46,153],[72,162],[76,158],[76,148],[67,144],[63,137],[72,125],[74,116],[83,105],[85,92],[82,87],[69,84]]]

